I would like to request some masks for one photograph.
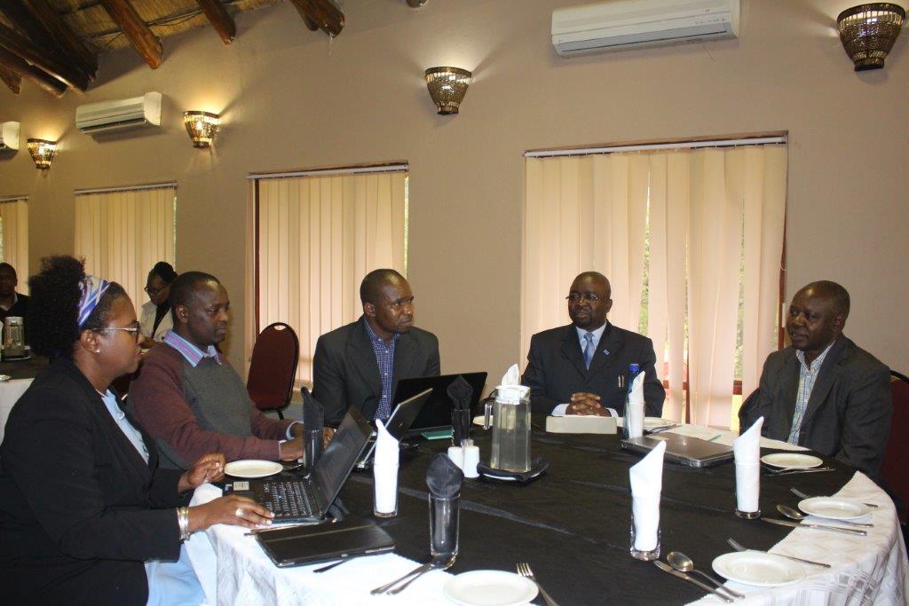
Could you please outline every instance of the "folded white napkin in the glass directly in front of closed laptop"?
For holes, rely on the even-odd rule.
[[[637,551],[654,551],[658,542],[664,452],[666,442],[660,442],[641,462],[628,470],[631,512],[634,516],[634,549]]]

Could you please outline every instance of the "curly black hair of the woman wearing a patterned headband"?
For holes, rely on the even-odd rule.
[[[33,351],[50,357],[72,358],[79,333],[104,328],[114,302],[127,296],[120,284],[111,283],[80,329],[80,284],[84,280],[84,259],[60,255],[41,260],[41,272],[28,279],[31,301],[25,323]]]

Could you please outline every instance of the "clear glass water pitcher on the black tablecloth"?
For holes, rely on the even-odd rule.
[[[495,400],[486,402],[483,428],[493,415],[493,452],[489,466],[506,472],[530,471],[530,388],[499,385]]]

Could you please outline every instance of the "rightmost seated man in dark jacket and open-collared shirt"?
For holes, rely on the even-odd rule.
[[[771,353],[739,411],[742,431],[764,417],[765,437],[835,457],[876,477],[890,435],[890,371],[843,334],[849,293],[810,283],[789,306],[792,346]]]

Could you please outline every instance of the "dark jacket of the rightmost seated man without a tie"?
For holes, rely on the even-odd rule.
[[[767,356],[760,386],[739,410],[743,432],[763,416],[764,437],[788,439],[798,392],[799,364],[793,347]],[[884,459],[892,415],[889,369],[840,335],[814,380],[798,443],[876,478]]]

